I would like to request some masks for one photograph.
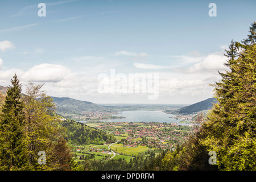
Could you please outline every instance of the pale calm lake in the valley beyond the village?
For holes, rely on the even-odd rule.
[[[125,117],[123,119],[109,119],[102,120],[107,122],[167,122],[167,123],[177,123],[180,120],[169,118],[175,115],[166,114],[162,111],[147,111],[147,110],[133,110],[133,111],[122,111],[121,114],[115,114],[115,116]],[[184,123],[179,123],[183,125]]]

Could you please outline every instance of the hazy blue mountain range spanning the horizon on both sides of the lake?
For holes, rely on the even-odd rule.
[[[7,86],[0,86],[0,92],[5,93]],[[52,97],[57,107],[57,113],[81,114],[83,111],[120,111],[120,110],[165,110],[170,114],[192,114],[211,109],[217,101],[215,98],[197,102],[189,106],[183,105],[98,105],[93,102],[75,100],[69,97]],[[171,108],[168,110],[167,108]]]

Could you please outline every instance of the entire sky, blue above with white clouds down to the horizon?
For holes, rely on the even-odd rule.
[[[39,3],[46,16],[39,17]],[[217,16],[210,17],[209,3]],[[224,49],[246,38],[256,1],[1,1],[0,85],[16,72],[51,96],[96,103],[192,104],[212,97]],[[159,96],[98,92],[110,70],[159,74]]]

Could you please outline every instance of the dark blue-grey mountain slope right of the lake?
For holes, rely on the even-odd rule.
[[[216,98],[208,98],[207,100],[197,102],[195,104],[185,106],[177,110],[178,114],[192,114],[199,111],[212,109],[213,104],[216,104]]]

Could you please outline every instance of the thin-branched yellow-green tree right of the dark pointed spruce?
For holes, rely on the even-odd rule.
[[[59,127],[61,121],[55,116],[55,104],[42,91],[42,86],[29,82],[23,97],[28,162],[34,169],[64,169],[67,167],[65,162],[71,161],[67,142],[63,139],[64,129]],[[46,165],[38,164],[39,151],[46,152]]]

